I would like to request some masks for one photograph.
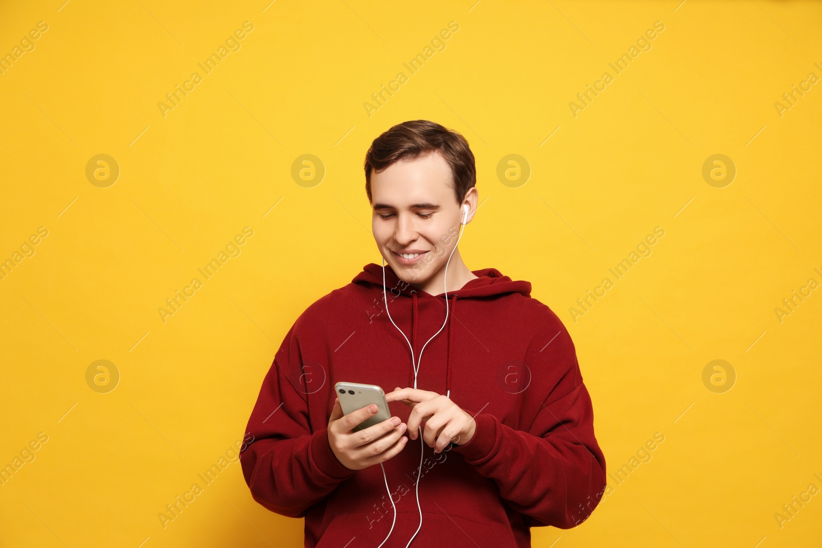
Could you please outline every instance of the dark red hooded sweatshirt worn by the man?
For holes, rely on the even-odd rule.
[[[574,343],[531,284],[496,269],[449,292],[445,329],[419,360],[417,388],[447,394],[476,420],[468,443],[440,454],[421,437],[386,461],[396,523],[385,545],[531,546],[529,527],[582,523],[605,488],[605,458]],[[415,356],[446,319],[445,294],[402,282],[386,265],[391,318]],[[305,546],[376,548],[394,510],[382,468],[344,467],[326,428],[338,381],[413,387],[408,343],[383,303],[382,267],[298,317],[275,354],[248,421],[242,473],[254,500],[305,518]],[[403,421],[409,408],[389,404]],[[407,435],[407,433],[406,433]]]

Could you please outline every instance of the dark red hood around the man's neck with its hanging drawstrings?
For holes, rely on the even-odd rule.
[[[454,316],[456,314],[457,299],[497,297],[510,293],[521,293],[522,295],[524,295],[524,297],[531,296],[530,282],[526,282],[524,280],[512,280],[508,276],[503,275],[497,269],[480,269],[472,270],[472,272],[475,276],[478,276],[478,278],[469,280],[469,282],[466,283],[462,288],[447,293],[449,301],[446,301],[446,311],[448,315],[448,319],[446,321],[448,338],[448,350],[446,352],[446,396],[448,398],[451,397],[451,351],[453,348],[453,344],[451,343],[451,334],[454,330],[453,325]],[[380,294],[383,295],[382,280],[383,267],[381,265],[376,265],[375,263],[370,263],[363,267],[363,271],[354,277],[352,283],[357,283],[370,289],[374,289],[376,286],[376,288],[379,288]],[[397,299],[399,299],[399,297],[411,297],[410,344],[413,357],[409,369],[409,386],[417,388],[417,375],[414,375],[414,365],[419,364],[419,361],[422,357],[420,355],[422,353],[422,350],[420,350],[420,354],[418,354],[419,344],[417,340],[417,328],[419,325],[418,294],[420,295],[420,297],[423,298],[432,297],[445,299],[446,292],[441,292],[437,295],[431,295],[430,293],[427,293],[422,289],[414,288],[413,285],[411,285],[410,283],[404,282],[403,280],[399,279],[399,276],[395,274],[394,269],[392,269],[390,265],[386,265],[385,267],[385,280],[386,293],[384,297],[387,297],[388,292],[390,292],[392,297],[391,302],[395,302]],[[384,298],[382,300],[384,302]],[[387,307],[388,303],[384,302],[384,305]],[[395,303],[394,306],[398,305]],[[419,365],[417,365],[417,368],[419,368]]]

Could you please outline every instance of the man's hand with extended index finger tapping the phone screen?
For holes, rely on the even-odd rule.
[[[397,388],[386,394],[389,402],[402,402],[411,408],[409,437],[417,439],[417,429],[425,420],[423,441],[440,453],[453,441],[467,444],[473,438],[477,422],[446,396],[413,388]]]

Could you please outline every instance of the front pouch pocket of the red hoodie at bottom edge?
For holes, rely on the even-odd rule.
[[[338,513],[331,520],[316,548],[376,548],[386,538],[393,512],[369,527],[367,512]],[[383,548],[408,544],[419,524],[419,513],[398,512],[394,531]],[[517,548],[508,523],[483,523],[454,514],[423,512],[420,527],[411,546],[465,546],[466,548]]]

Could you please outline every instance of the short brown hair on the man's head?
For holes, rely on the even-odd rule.
[[[401,159],[417,159],[439,152],[451,168],[451,182],[457,204],[477,184],[477,168],[468,141],[459,132],[428,120],[409,120],[391,127],[377,137],[365,154],[365,191],[371,195],[371,173],[387,168]]]

